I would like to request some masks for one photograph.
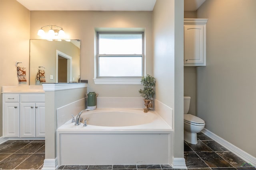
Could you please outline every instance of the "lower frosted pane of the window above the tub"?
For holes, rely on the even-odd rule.
[[[142,57],[99,57],[99,76],[142,76]]]

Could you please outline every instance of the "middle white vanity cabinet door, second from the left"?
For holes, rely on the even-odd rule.
[[[20,137],[36,137],[35,103],[20,104]]]

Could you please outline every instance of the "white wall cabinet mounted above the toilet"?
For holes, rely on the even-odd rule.
[[[206,66],[208,19],[184,19],[184,66]]]

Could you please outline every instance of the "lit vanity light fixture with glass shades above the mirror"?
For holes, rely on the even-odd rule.
[[[46,33],[45,30],[48,30],[48,32]],[[67,35],[65,34],[64,30],[62,27],[59,27],[57,25],[46,25],[41,27],[38,30],[37,35],[39,35],[40,37],[42,37],[42,39],[47,39],[49,41],[61,41],[62,39],[65,39],[66,41],[69,41]]]

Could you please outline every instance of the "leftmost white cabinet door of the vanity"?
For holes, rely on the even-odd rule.
[[[4,137],[20,137],[20,104],[5,103],[3,113]]]

